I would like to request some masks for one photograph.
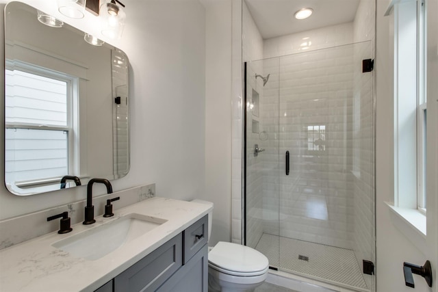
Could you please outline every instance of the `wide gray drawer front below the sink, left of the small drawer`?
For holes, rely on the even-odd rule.
[[[181,233],[114,278],[114,291],[155,291],[182,265]]]

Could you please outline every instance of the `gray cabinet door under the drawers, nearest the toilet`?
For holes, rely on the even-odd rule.
[[[207,292],[208,247],[204,245],[191,259],[164,282],[160,292]]]

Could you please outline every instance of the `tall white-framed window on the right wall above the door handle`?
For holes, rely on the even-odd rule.
[[[394,5],[394,189],[396,207],[426,213],[424,0]]]

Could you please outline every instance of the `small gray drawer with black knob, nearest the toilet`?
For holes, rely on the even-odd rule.
[[[207,244],[208,215],[192,224],[183,232],[183,264],[187,263],[198,250]]]

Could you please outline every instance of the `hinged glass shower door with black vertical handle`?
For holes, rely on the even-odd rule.
[[[374,261],[371,56],[365,42],[280,61],[280,269],[360,289]]]

